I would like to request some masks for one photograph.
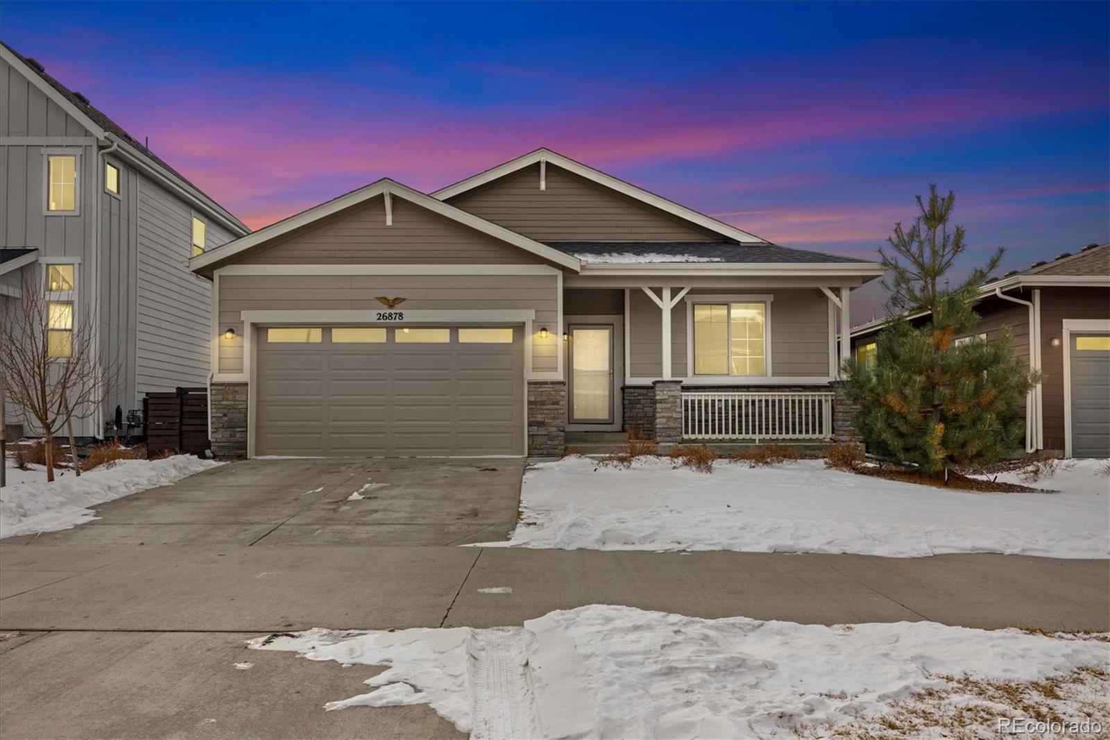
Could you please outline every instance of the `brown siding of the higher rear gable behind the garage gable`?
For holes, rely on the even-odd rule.
[[[571,172],[539,164],[448,199],[452,206],[539,241],[712,241],[719,236]]]

